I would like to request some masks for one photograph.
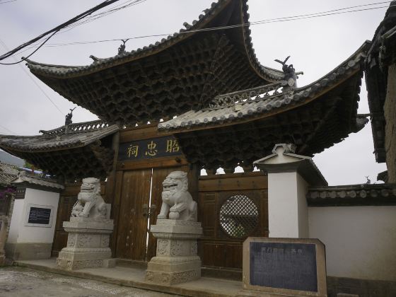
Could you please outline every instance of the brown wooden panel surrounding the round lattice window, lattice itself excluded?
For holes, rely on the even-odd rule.
[[[248,196],[258,212],[257,225],[241,238],[226,233],[219,219],[221,206],[235,195]],[[267,177],[258,173],[229,175],[229,178],[224,175],[204,177],[199,182],[198,208],[198,221],[202,222],[204,232],[198,241],[202,265],[242,269],[243,241],[248,236],[268,236]]]

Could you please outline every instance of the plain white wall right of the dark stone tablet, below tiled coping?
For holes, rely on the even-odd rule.
[[[310,238],[326,245],[327,275],[396,281],[396,206],[310,207]]]

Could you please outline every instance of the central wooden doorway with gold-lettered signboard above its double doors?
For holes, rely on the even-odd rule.
[[[197,199],[197,170],[187,164],[173,136],[158,135],[156,130],[152,125],[120,132],[112,202],[112,252],[117,258],[149,261],[156,254],[156,240],[148,227],[161,210],[162,182],[170,172],[187,172]]]

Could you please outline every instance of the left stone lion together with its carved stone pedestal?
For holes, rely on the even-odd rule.
[[[59,252],[57,266],[66,270],[114,266],[109,248],[114,226],[109,217],[110,204],[104,204],[100,197],[100,181],[93,177],[83,179],[70,221],[63,223],[69,235],[67,247]]]

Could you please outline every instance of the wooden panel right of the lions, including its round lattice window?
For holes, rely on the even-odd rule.
[[[202,266],[242,269],[243,241],[248,236],[268,236],[267,205],[267,177],[262,173],[200,177]]]

